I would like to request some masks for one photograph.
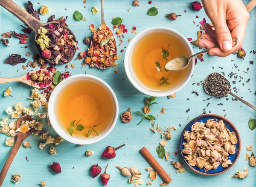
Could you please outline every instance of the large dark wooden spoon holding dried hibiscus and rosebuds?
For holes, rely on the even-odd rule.
[[[45,27],[48,29],[49,24],[54,24],[58,25],[59,23],[57,21],[52,21],[49,23],[42,23],[41,21],[37,20],[35,17],[30,15],[26,10],[24,10],[22,7],[18,6],[16,3],[14,3],[12,0],[0,0],[0,5],[3,6],[6,10],[14,14],[17,18],[19,18],[23,23],[25,23],[30,29],[32,29],[35,32],[35,40],[37,40],[37,34],[38,34],[38,29],[40,27]],[[71,35],[73,35],[73,40],[76,41],[76,36],[70,30],[68,27],[63,26],[65,29],[67,29]],[[35,48],[37,51],[41,54],[42,50],[40,49],[40,46],[35,42]],[[67,62],[63,62],[62,60],[58,61],[58,64],[64,64],[70,62],[72,58],[75,56],[76,53],[76,48],[73,49],[73,56],[72,57],[66,57]],[[49,63],[55,64],[55,61],[52,59],[45,59]]]

